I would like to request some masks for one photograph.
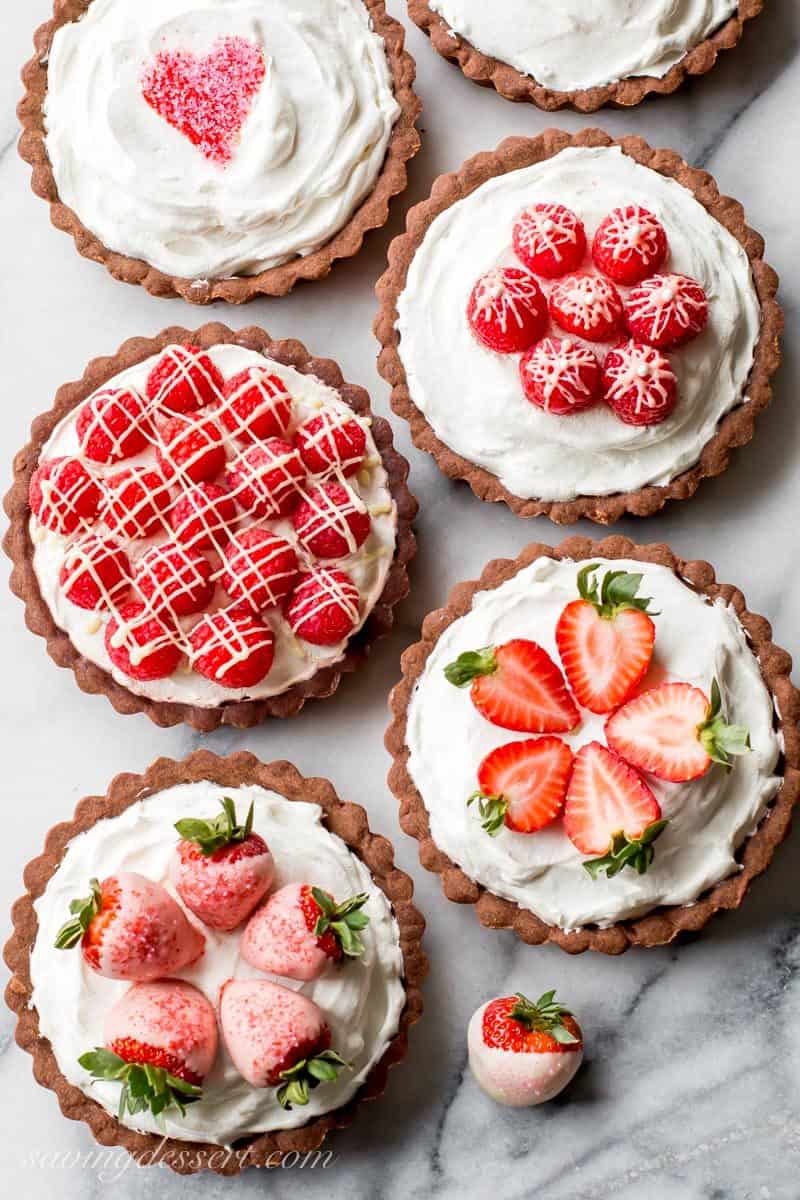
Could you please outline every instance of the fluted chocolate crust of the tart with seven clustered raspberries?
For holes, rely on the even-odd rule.
[[[397,302],[405,288],[414,254],[440,212],[469,196],[488,179],[543,162],[569,146],[620,146],[636,162],[676,180],[692,192],[746,251],[762,308],[762,329],[747,384],[747,401],[722,418],[693,467],[663,486],[648,485],[637,491],[612,496],[579,496],[573,500],[525,499],[504,487],[497,475],[445,445],[414,403],[398,349],[401,337],[396,329]],[[776,300],[777,275],[766,265],[763,254],[764,240],[746,224],[742,206],[736,200],[721,196],[711,175],[690,167],[674,150],[655,150],[638,137],[614,139],[595,128],[575,134],[563,130],[546,130],[535,138],[506,138],[497,150],[475,155],[453,174],[440,175],[429,198],[409,211],[405,233],[395,238],[389,247],[389,269],[375,286],[379,311],[373,329],[381,346],[378,370],[392,389],[392,409],[411,427],[414,444],[432,455],[439,469],[450,479],[465,480],[479,499],[493,503],[501,500],[517,516],[548,516],[555,524],[575,524],[582,517],[599,524],[613,524],[625,514],[652,516],[668,500],[688,499],[699,487],[700,480],[722,474],[733,450],[753,437],[756,418],[771,400],[770,380],[781,362],[783,313]]]

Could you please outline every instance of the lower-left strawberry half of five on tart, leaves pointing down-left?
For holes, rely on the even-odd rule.
[[[555,821],[564,808],[572,773],[572,751],[561,738],[509,742],[487,754],[477,768],[481,823],[497,838],[503,826],[536,833]]]

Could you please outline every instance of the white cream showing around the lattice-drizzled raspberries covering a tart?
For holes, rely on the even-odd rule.
[[[344,403],[339,395],[314,376],[302,374],[294,367],[283,366],[281,362],[267,359],[255,350],[249,350],[240,346],[212,346],[206,353],[225,379],[231,378],[249,366],[267,367],[272,374],[283,382],[291,396],[293,428],[323,410],[330,412],[333,418],[341,416],[343,420],[355,418],[353,410]],[[109,379],[100,390],[133,388],[144,396],[145,380],[157,359],[158,355],[154,355],[133,367],[128,367],[126,371]],[[82,457],[77,431],[79,407],[74,408],[56,425],[42,450],[41,461],[56,458],[61,455]],[[211,407],[200,409],[198,415],[203,416],[204,414],[213,418],[213,409]],[[368,420],[355,419],[365,430],[367,455],[359,474],[349,476],[345,481],[351,496],[348,503],[351,506],[357,505],[361,511],[366,510],[369,512],[372,528],[367,540],[351,553],[348,553],[347,557],[320,560],[321,566],[343,570],[357,588],[357,611],[353,613],[355,629],[349,635],[350,637],[361,629],[383,592],[395,554],[397,532],[397,509],[387,487],[387,476],[380,461],[378,448],[369,432]],[[222,425],[219,427],[223,428]],[[242,449],[240,444],[234,444],[233,437],[228,431],[223,430],[223,433],[229,454]],[[92,474],[97,476],[112,475],[131,466],[146,466],[149,469],[158,469],[156,450],[152,445],[149,445],[139,455],[109,466],[89,463],[88,460],[84,461],[86,461]],[[313,479],[315,478],[313,476]],[[336,478],[333,475],[333,479]],[[170,485],[174,488],[175,480],[170,480]],[[303,570],[311,565],[311,557],[297,542],[291,518],[265,522],[249,516],[241,516],[236,523],[236,529],[243,529],[253,524],[269,528],[279,538],[290,542],[295,547],[297,559]],[[90,529],[91,532],[102,533],[103,526],[101,522],[96,522]],[[281,610],[270,608],[260,616],[270,625],[275,635],[275,660],[269,673],[259,684],[247,689],[225,688],[213,679],[192,671],[186,659],[182,660],[173,674],[166,678],[148,682],[133,679],[112,662],[106,649],[106,625],[112,611],[118,611],[119,604],[124,600],[136,599],[136,594],[131,592],[126,596],[121,596],[119,601],[110,605],[112,611],[88,612],[85,608],[79,608],[67,599],[64,588],[59,583],[61,566],[74,539],[65,538],[61,534],[46,529],[32,515],[30,533],[34,541],[34,570],[38,580],[42,598],[48,605],[56,625],[68,634],[72,643],[84,658],[103,667],[119,684],[137,695],[148,696],[151,700],[198,704],[206,708],[212,708],[223,701],[257,700],[266,696],[276,696],[293,684],[311,678],[321,667],[338,662],[347,650],[349,637],[333,646],[313,646],[311,642],[301,641],[291,632]],[[112,540],[118,542],[120,540],[124,541],[124,539],[119,539],[114,533],[112,534]],[[136,563],[152,546],[167,541],[173,542],[173,540],[172,527],[164,521],[163,529],[160,529],[154,536],[137,539],[134,542],[127,544],[126,550],[132,570],[136,569]],[[219,576],[221,569],[216,574]],[[355,607],[355,601],[348,600],[345,593],[341,593],[341,595],[337,593],[337,596],[343,604],[353,604]],[[212,612],[229,607],[230,604],[230,598],[227,596],[222,584],[218,583],[207,611]],[[306,616],[308,614],[306,613]],[[186,640],[197,619],[196,616],[175,620],[175,624],[182,630],[181,636]],[[186,641],[185,649],[188,649],[188,641]]]

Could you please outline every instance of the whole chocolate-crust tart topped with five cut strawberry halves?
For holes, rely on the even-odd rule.
[[[800,794],[789,655],[708,563],[569,538],[458,584],[403,655],[389,781],[482,924],[570,953],[740,905]]]

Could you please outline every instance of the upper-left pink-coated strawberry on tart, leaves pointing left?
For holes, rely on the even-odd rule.
[[[119,871],[70,905],[56,949],[80,942],[92,971],[107,979],[160,979],[200,958],[205,938],[169,892],[136,871]]]

